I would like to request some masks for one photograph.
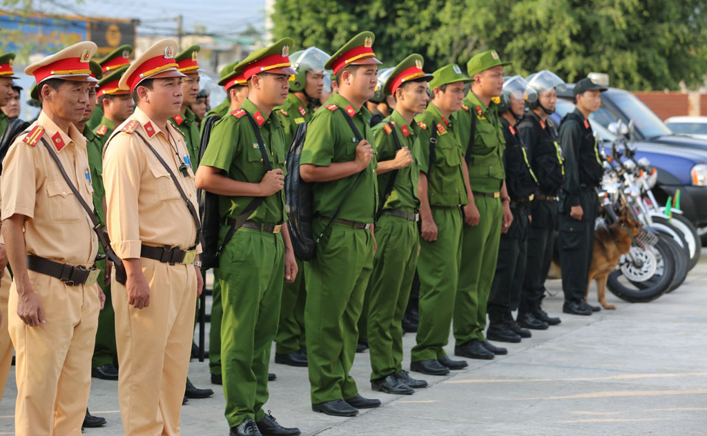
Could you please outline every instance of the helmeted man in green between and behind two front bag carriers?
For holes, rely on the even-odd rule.
[[[329,54],[317,47],[309,47],[291,56],[297,74],[290,77],[290,93],[284,104],[276,108],[285,130],[285,143],[289,146],[297,126],[312,121],[315,101],[324,88],[324,64]],[[280,321],[275,336],[275,363],[307,366],[305,353],[305,289],[303,263],[298,261],[297,278],[282,288]]]

